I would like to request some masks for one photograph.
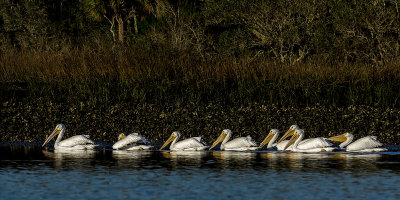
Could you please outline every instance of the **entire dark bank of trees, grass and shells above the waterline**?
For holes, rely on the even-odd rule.
[[[57,123],[104,141],[175,129],[211,141],[223,128],[260,139],[296,123],[310,137],[400,139],[396,0],[0,4],[1,141],[41,141]]]

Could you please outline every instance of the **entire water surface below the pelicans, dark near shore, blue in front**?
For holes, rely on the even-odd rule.
[[[0,146],[1,199],[400,199],[400,154]]]

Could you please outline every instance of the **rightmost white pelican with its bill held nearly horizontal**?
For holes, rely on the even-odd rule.
[[[338,136],[328,138],[329,141],[332,142],[341,142],[339,147],[340,150],[343,151],[352,151],[352,152],[381,152],[388,151],[386,148],[382,148],[382,143],[380,143],[376,136],[366,136],[360,138],[353,143],[353,134],[344,133]],[[350,144],[351,143],[351,144]]]

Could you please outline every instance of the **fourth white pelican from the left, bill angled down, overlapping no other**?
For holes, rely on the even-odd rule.
[[[221,150],[231,150],[231,151],[251,151],[257,150],[256,142],[250,137],[239,137],[228,142],[232,136],[232,131],[229,129],[224,129],[221,135],[215,140],[213,145],[209,150],[214,148],[217,144],[221,143]]]

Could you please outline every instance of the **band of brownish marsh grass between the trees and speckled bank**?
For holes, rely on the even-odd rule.
[[[203,59],[162,47],[83,45],[3,53],[0,80],[3,100],[398,106],[398,63],[284,64],[251,54]]]

